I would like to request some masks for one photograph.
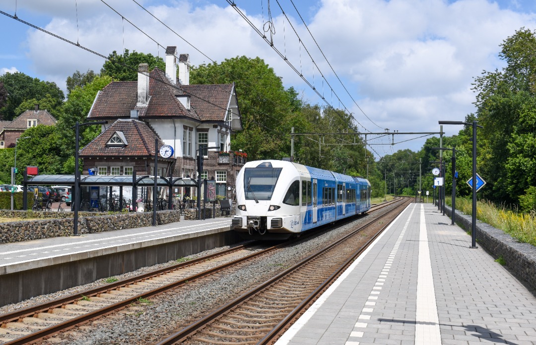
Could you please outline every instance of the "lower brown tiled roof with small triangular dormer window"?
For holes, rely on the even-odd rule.
[[[116,131],[123,132],[127,145],[110,147],[106,143]],[[158,147],[164,142],[147,123],[134,119],[120,119],[80,150],[80,157],[154,157],[154,140]]]

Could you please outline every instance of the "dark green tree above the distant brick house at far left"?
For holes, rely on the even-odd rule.
[[[35,99],[39,100],[39,103],[41,100],[47,99],[47,102],[50,102],[55,109],[62,105],[65,98],[63,91],[56,83],[43,82],[20,72],[8,72],[0,77],[0,82],[4,84],[5,90],[9,94],[7,104],[0,108],[0,116],[3,120],[13,120],[17,115],[17,107],[25,100]]]

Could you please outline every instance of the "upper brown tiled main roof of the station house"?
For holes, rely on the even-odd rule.
[[[150,72],[149,101],[146,107],[136,107],[137,82],[111,82],[98,94],[88,118],[130,118],[130,111],[139,110],[139,118],[184,117],[194,121],[224,121],[233,90],[232,84],[171,85],[158,68]],[[176,96],[189,94],[190,109]]]

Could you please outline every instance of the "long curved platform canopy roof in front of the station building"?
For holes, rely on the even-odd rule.
[[[157,186],[169,187],[169,178],[157,176]],[[132,175],[81,175],[80,186],[154,186],[154,176],[139,175],[133,181]],[[191,178],[172,177],[173,186],[196,187],[197,180]],[[26,181],[26,185],[74,186],[75,175],[37,175]]]

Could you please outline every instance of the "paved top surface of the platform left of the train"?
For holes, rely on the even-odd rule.
[[[230,230],[231,217],[0,244],[0,275]]]

